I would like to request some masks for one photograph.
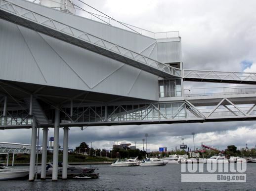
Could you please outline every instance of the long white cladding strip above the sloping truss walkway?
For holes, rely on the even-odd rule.
[[[141,52],[156,40],[147,36],[142,36],[134,32],[128,32],[123,29],[109,26],[104,23],[96,22],[83,17],[75,16],[61,12],[52,8],[44,7],[39,4],[31,3],[25,0],[9,0],[20,6],[29,8],[39,14],[51,17],[61,23],[85,31],[104,40],[108,40],[119,46],[123,46],[134,52]]]

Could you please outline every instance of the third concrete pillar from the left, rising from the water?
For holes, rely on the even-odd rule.
[[[52,181],[58,180],[60,111],[55,109]]]

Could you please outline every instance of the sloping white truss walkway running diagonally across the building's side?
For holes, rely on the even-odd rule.
[[[181,70],[179,68],[160,63],[117,44],[11,3],[8,0],[0,0],[0,17],[160,77],[181,77]]]

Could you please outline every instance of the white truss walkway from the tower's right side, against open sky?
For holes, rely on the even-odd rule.
[[[222,72],[208,70],[183,70],[184,81],[256,84],[256,73]]]

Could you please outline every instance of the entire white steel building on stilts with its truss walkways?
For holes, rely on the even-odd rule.
[[[0,39],[0,129],[32,128],[31,147],[0,151],[30,152],[30,181],[40,128],[45,166],[54,127],[56,181],[61,127],[66,179],[69,127],[256,119],[256,73],[184,69],[179,32],[149,32],[70,0],[0,0]],[[233,85],[185,89],[190,81]]]

